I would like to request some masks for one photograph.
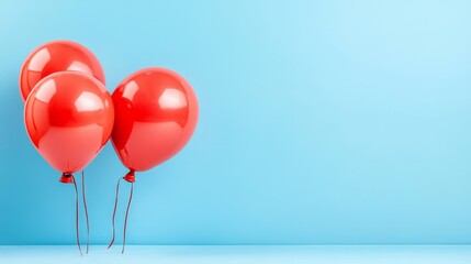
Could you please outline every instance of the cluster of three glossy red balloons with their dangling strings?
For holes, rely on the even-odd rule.
[[[60,182],[77,184],[74,174],[98,155],[111,138],[113,147],[128,173],[148,170],[175,154],[190,140],[198,122],[197,96],[177,73],[150,67],[126,77],[110,95],[97,57],[70,41],[53,41],[34,50],[20,73],[20,92],[25,101],[27,134],[44,160],[61,173]],[[120,178],[121,180],[121,178]],[[117,205],[119,184],[116,186]],[[78,235],[77,198],[77,243]],[[88,212],[87,230],[88,230]],[[125,244],[125,227],[124,242]],[[88,243],[87,243],[88,252]]]

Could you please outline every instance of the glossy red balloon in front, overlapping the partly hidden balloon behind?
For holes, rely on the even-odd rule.
[[[78,72],[42,79],[24,109],[34,146],[51,166],[66,175],[83,169],[97,156],[110,139],[113,120],[113,101],[106,88]]]

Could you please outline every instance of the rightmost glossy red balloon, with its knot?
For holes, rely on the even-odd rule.
[[[131,173],[157,166],[177,154],[198,122],[190,84],[165,68],[145,68],[124,79],[112,95],[115,120],[111,142]]]

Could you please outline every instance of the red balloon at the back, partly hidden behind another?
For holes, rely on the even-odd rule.
[[[103,68],[93,53],[71,41],[53,41],[34,50],[21,67],[20,92],[23,101],[41,79],[66,70],[92,75],[104,85]]]

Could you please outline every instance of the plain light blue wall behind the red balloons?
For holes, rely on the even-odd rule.
[[[0,2],[0,244],[75,243],[18,89],[55,38],[92,50],[110,91],[156,65],[199,96],[192,141],[138,175],[130,243],[471,242],[471,2]],[[86,169],[93,243],[125,173],[110,144]]]

